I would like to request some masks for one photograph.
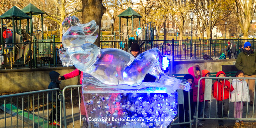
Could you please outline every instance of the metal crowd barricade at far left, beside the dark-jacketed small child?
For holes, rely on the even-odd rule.
[[[4,127],[5,128],[10,127],[9,125],[8,126],[6,125],[7,123],[10,124],[11,127],[13,126],[13,123],[15,121],[12,120],[12,116],[16,116],[16,118],[17,118],[17,121],[16,121],[17,128],[20,128],[20,127],[24,128],[24,122],[27,122],[27,124],[28,124],[27,127],[28,128],[29,127],[33,127],[33,128],[34,127],[37,127],[37,128],[39,128],[39,127],[43,127],[43,128],[53,127],[53,124],[51,126],[48,125],[49,108],[53,109],[53,107],[52,107],[52,105],[51,105],[51,103],[48,99],[49,96],[50,96],[48,94],[48,92],[52,92],[52,95],[51,95],[52,99],[53,99],[53,95],[56,96],[56,99],[55,99],[56,101],[57,101],[57,97],[58,97],[57,92],[62,94],[60,89],[55,88],[55,89],[47,89],[47,90],[24,92],[24,93],[17,93],[17,94],[10,94],[10,95],[0,96],[0,101],[4,102],[4,104],[0,106],[0,108],[4,110]],[[35,106],[36,105],[36,101],[35,101],[36,96],[35,95],[37,95],[37,106]],[[47,102],[45,102],[45,100],[46,100],[45,96],[47,96]],[[62,97],[60,97],[60,96],[61,95],[59,95],[58,99],[60,100],[60,127],[61,127],[62,126],[62,109],[61,109],[62,108],[62,105],[61,105]],[[25,101],[24,99],[26,99],[26,97],[27,97],[27,102],[28,103],[24,104],[24,101]],[[40,97],[43,97],[43,100],[41,101],[41,103],[40,103]],[[22,98],[22,99],[20,99],[20,98]],[[16,99],[16,106],[13,105],[13,103],[15,103],[15,102],[13,102],[14,99]],[[18,106],[19,102],[22,102],[22,106]],[[47,110],[44,109],[45,105],[47,105]],[[49,107],[49,105],[51,105],[51,107]],[[8,108],[9,106],[10,106],[10,109]],[[40,108],[40,106],[43,106],[43,107]],[[20,107],[22,107],[22,108],[20,108]],[[26,107],[27,107],[27,110],[24,110]],[[57,107],[58,107],[58,105],[56,104],[56,108]],[[29,108],[33,108],[33,113],[30,113]],[[35,114],[36,108],[37,108],[37,115]],[[39,111],[39,109],[43,109],[43,110]],[[8,112],[8,111],[10,113],[10,118],[11,118],[10,122],[6,121],[6,119],[8,119],[8,117],[6,116],[6,112]],[[46,119],[44,118],[45,111],[47,111],[47,118]],[[16,112],[16,114],[15,114],[15,112]],[[42,113],[42,114],[40,114],[40,113]],[[57,109],[56,109],[56,113],[57,113]],[[56,118],[57,118],[57,115],[56,115]],[[21,125],[19,125],[19,119],[22,122]],[[52,119],[53,119],[53,115],[52,115]],[[30,120],[32,121],[31,123],[30,123]],[[57,123],[56,123],[56,127],[57,127]]]

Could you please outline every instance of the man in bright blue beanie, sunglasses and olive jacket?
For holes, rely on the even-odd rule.
[[[255,57],[256,53],[251,49],[251,43],[245,42],[244,43],[244,51],[238,54],[236,59],[236,68],[238,70],[242,70],[244,72],[244,77],[252,77],[255,78],[256,74],[256,66],[255,66]],[[245,79],[247,84],[249,85],[249,94],[250,94],[250,106],[253,106],[254,100],[254,83],[255,80],[248,80]],[[249,81],[249,82],[248,82]]]

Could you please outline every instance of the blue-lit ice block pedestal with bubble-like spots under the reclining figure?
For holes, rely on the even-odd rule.
[[[141,86],[83,84],[89,128],[166,128],[177,114],[178,93],[159,83]]]

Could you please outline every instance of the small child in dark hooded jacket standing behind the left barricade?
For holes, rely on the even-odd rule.
[[[51,78],[51,83],[49,84],[48,89],[60,88],[60,83],[61,83],[59,81],[60,74],[58,72],[51,71],[49,75]],[[49,116],[48,124],[53,124],[53,125],[57,124],[60,126],[60,100],[58,99],[59,94],[60,93],[58,91],[48,92],[48,99],[52,103],[52,111]],[[56,101],[56,98],[57,98],[57,101]]]

